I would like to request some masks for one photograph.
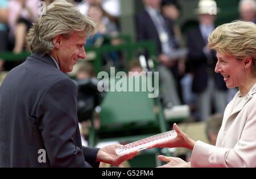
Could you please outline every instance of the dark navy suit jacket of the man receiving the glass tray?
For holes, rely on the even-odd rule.
[[[32,53],[12,69],[0,86],[0,167],[97,167],[98,149],[82,147],[76,105],[76,85],[51,56]]]

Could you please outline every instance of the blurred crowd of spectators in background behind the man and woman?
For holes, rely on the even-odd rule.
[[[44,0],[46,6],[53,1]],[[88,14],[97,23],[97,34],[88,38],[86,47],[102,44],[102,37],[105,35],[121,32],[119,0],[69,0],[69,2],[75,4],[82,14]],[[223,114],[225,106],[236,94],[237,89],[227,89],[221,74],[214,73],[216,52],[207,45],[208,36],[216,27],[214,22],[220,10],[216,2],[213,0],[198,2],[195,7],[197,27],[188,31],[186,38],[177,25],[182,10],[178,0],[142,0],[142,2],[144,9],[134,17],[137,40],[154,40],[156,43],[164,109],[171,109],[175,105],[189,105],[192,118],[196,121],[205,121],[213,113]],[[0,52],[13,51],[19,54],[28,51],[26,35],[32,23],[39,18],[43,6],[40,0],[0,1]],[[216,14],[209,14],[209,7],[214,7]],[[255,0],[241,0],[238,11],[240,20],[256,23]],[[114,55],[119,57],[118,54],[114,53]],[[138,61],[133,61],[131,66],[133,70],[142,70]],[[4,61],[0,59],[0,71],[4,71],[4,68]],[[77,80],[95,77],[93,66],[88,64],[81,66],[76,77]],[[90,126],[90,123],[84,125]],[[210,135],[209,138],[214,137]]]

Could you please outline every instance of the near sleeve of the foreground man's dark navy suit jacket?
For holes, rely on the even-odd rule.
[[[76,100],[76,85],[63,78],[49,85],[38,103],[38,126],[52,167],[91,167],[75,144]]]

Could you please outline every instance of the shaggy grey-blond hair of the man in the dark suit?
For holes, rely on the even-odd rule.
[[[96,24],[86,15],[64,0],[47,6],[44,13],[28,32],[27,43],[32,53],[51,53],[55,48],[52,39],[57,35],[69,38],[76,31],[85,31],[87,36],[94,35]],[[85,35],[85,34],[84,34]]]

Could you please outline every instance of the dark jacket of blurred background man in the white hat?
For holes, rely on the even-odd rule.
[[[219,90],[226,90],[224,77],[220,73],[215,73],[217,63],[215,52],[212,52],[212,60],[208,60],[204,55],[203,48],[206,45],[199,28],[188,32],[187,45],[189,48],[188,64],[191,71],[195,74],[193,78],[192,91],[200,93],[207,88],[208,78],[213,76],[215,85]]]

